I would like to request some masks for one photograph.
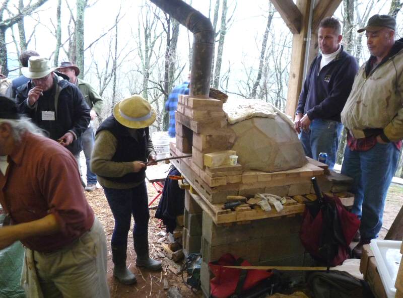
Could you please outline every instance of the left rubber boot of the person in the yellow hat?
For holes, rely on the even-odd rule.
[[[122,284],[137,282],[136,275],[126,267],[126,245],[112,245],[113,276]]]

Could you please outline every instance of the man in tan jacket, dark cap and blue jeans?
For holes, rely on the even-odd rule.
[[[395,41],[396,21],[374,15],[364,32],[370,58],[362,65],[342,111],[348,129],[342,173],[354,178],[353,212],[361,217],[361,240],[378,237],[387,190],[403,139],[403,39]]]

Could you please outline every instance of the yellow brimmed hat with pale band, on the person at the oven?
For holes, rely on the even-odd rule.
[[[157,113],[143,97],[132,95],[115,104],[113,116],[128,128],[145,128],[154,123]]]

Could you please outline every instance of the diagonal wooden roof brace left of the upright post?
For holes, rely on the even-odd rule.
[[[292,34],[301,31],[302,15],[292,0],[271,0]]]

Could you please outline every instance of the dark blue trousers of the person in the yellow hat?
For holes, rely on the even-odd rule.
[[[115,228],[112,234],[112,245],[125,245],[130,230],[131,215],[135,219],[133,235],[141,236],[148,233],[150,212],[146,182],[128,189],[104,187],[104,192],[113,217]]]

